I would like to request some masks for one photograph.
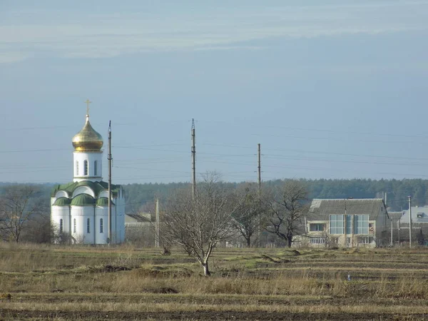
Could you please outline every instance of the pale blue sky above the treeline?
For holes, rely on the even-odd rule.
[[[0,181],[428,179],[428,0],[0,1]]]

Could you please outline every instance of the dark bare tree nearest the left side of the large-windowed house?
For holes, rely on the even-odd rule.
[[[305,232],[302,216],[307,213],[306,201],[307,191],[297,180],[287,180],[265,198],[270,210],[265,229],[284,240],[289,248],[294,236]]]

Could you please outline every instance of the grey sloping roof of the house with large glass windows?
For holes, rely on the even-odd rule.
[[[330,214],[368,214],[370,220],[387,210],[382,198],[320,199],[314,198],[308,216],[317,220],[328,220]],[[382,210],[381,210],[382,209]],[[388,214],[387,214],[388,215]]]

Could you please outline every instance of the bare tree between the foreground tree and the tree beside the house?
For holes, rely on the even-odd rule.
[[[235,202],[238,206],[233,213],[231,223],[250,248],[251,239],[260,228],[263,213],[265,213],[265,203],[260,198],[257,186],[251,183],[235,190]]]

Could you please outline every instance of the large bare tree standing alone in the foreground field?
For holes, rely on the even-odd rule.
[[[235,207],[230,193],[221,188],[218,174],[205,175],[197,190],[194,199],[191,190],[186,189],[169,200],[163,233],[193,255],[208,276],[208,260],[215,246],[230,235]]]

